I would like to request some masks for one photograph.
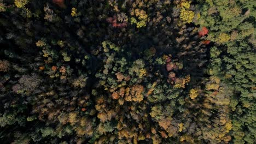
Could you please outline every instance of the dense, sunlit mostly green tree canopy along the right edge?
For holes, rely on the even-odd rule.
[[[208,35],[208,39],[211,38],[216,42],[211,48],[209,72],[211,75],[220,76],[224,83],[234,89],[230,99],[231,118],[234,124],[232,141],[253,143],[255,130],[250,129],[251,124],[248,123],[252,123],[256,85],[253,78],[255,77],[256,55],[253,52],[255,44],[251,40],[255,39],[255,15],[252,12],[255,11],[252,7],[255,2],[208,1],[208,4],[210,5],[201,5],[205,9],[198,23],[210,28],[213,33]],[[209,17],[215,22],[211,23]]]

